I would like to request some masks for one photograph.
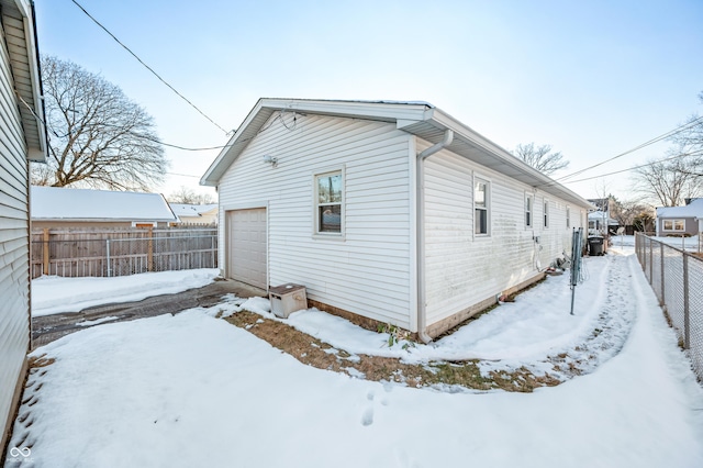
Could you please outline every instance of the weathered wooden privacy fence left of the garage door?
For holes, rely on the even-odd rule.
[[[113,277],[217,267],[217,230],[105,229],[32,233],[32,278]]]

